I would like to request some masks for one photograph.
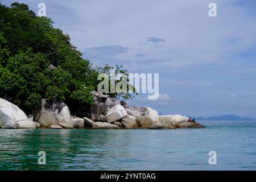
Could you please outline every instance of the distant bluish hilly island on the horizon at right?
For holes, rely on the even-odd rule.
[[[159,113],[159,115],[166,115],[163,113]],[[196,121],[256,121],[255,118],[249,117],[240,117],[235,114],[228,114],[228,115],[220,115],[220,116],[212,116],[212,117],[191,117],[195,118]]]

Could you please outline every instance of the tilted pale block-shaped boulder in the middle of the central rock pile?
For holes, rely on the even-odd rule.
[[[127,112],[123,106],[115,105],[106,114],[106,120],[109,123],[112,123],[114,121],[118,121],[119,119],[126,117],[126,115],[127,115]]]

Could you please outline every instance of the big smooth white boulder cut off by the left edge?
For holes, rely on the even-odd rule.
[[[0,98],[0,127],[15,129],[16,122],[27,120],[27,115],[18,106]]]

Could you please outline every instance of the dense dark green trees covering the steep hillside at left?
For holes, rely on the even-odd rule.
[[[90,91],[97,89],[98,73],[110,69],[93,68],[52,24],[22,3],[11,8],[0,4],[0,97],[26,112],[38,109],[42,98],[64,101],[71,108],[92,104]]]

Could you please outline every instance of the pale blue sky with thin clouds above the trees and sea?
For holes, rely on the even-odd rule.
[[[0,1],[10,6],[13,1]],[[256,1],[17,1],[71,37],[93,65],[159,73],[159,98],[128,102],[159,113],[256,118]],[[210,17],[209,3],[217,16]]]

